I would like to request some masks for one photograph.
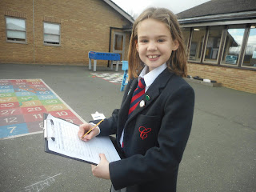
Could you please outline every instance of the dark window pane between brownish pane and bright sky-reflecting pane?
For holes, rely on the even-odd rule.
[[[219,46],[222,38],[222,26],[210,26],[206,42],[205,62],[218,62]]]

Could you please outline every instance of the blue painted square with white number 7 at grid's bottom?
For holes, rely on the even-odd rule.
[[[14,124],[9,126],[0,126],[0,138],[7,138],[17,134],[27,134],[29,130],[27,129],[26,123]]]

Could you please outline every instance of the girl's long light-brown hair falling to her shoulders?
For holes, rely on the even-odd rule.
[[[187,69],[186,69],[186,50],[182,37],[182,31],[178,24],[178,20],[176,16],[165,8],[148,8],[142,12],[138,16],[138,18],[134,22],[131,38],[130,38],[130,46],[128,52],[128,63],[129,70],[128,76],[131,78],[138,78],[140,71],[143,69],[144,64],[139,58],[138,52],[136,50],[136,44],[138,42],[138,24],[147,18],[153,18],[160,22],[166,24],[166,26],[170,29],[170,34],[172,40],[177,40],[179,43],[178,50],[172,52],[169,60],[167,61],[168,68],[173,71],[175,74],[186,77]]]

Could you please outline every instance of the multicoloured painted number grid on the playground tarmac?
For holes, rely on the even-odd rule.
[[[0,138],[42,132],[43,113],[85,122],[42,79],[0,79]]]

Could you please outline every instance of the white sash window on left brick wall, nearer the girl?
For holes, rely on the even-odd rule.
[[[60,45],[60,24],[43,23],[43,42],[47,45]]]

